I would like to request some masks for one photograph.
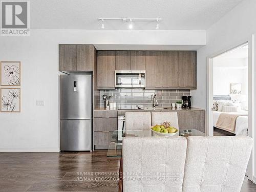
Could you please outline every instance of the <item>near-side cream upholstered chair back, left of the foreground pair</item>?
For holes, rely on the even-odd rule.
[[[181,192],[185,137],[124,137],[124,192]]]

